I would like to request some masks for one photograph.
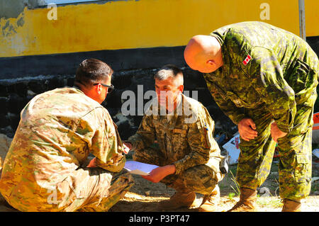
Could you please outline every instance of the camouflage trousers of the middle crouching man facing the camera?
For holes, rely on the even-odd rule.
[[[169,159],[164,158],[164,154],[162,154],[158,145],[135,150],[133,160],[157,166],[166,166],[173,163],[172,160],[169,161]],[[186,169],[181,174],[168,175],[160,182],[183,193],[194,191],[203,195],[210,195],[222,179],[223,175],[220,172],[216,172],[206,165],[198,165]]]

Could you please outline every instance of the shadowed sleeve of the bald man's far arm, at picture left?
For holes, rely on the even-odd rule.
[[[208,87],[208,90],[211,92],[211,96],[213,96],[215,102],[220,107],[220,109],[227,115],[230,120],[237,125],[240,120],[245,118],[245,113],[242,112],[240,108],[237,108],[235,104],[228,100],[228,98],[225,98],[223,95],[223,92],[217,84],[215,84],[213,81],[209,81],[208,78],[206,78],[206,84]]]

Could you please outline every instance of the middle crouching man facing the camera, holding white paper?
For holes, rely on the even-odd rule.
[[[127,145],[133,146],[135,161],[160,166],[150,176],[143,176],[145,179],[177,191],[160,208],[191,207],[196,193],[201,193],[205,196],[199,211],[213,211],[220,196],[218,181],[223,174],[219,163],[223,157],[213,139],[211,116],[201,103],[181,94],[183,89],[181,70],[174,65],[162,67],[155,74],[157,98]]]

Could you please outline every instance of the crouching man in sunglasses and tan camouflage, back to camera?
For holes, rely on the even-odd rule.
[[[74,87],[39,94],[23,108],[0,180],[13,208],[107,211],[133,185],[123,169],[125,146],[100,104],[112,73],[104,62],[84,60]]]

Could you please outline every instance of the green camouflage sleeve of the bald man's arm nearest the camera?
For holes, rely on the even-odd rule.
[[[272,113],[279,130],[290,132],[296,115],[295,93],[285,81],[281,66],[272,51],[264,47],[254,47],[248,74]]]

